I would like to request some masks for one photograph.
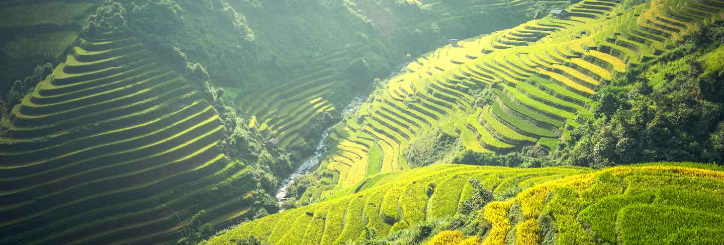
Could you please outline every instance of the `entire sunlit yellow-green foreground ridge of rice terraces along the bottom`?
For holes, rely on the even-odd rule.
[[[374,227],[374,219],[379,219],[378,211],[373,211],[372,218],[369,209],[362,211],[360,217],[349,217],[350,213],[361,211],[350,212],[354,205],[344,205],[348,209],[348,220],[341,225],[348,232],[348,228],[355,228],[355,236],[358,236],[355,244],[652,244],[684,241],[682,239],[691,238],[690,234],[694,232],[702,237],[691,241],[717,241],[721,235],[716,231],[724,221],[718,212],[724,207],[720,199],[720,188],[724,185],[722,170],[721,167],[692,163],[632,165],[594,172],[560,167],[515,170],[432,165],[387,175],[383,178],[396,180],[392,183],[381,180],[377,183],[382,184],[342,197],[354,202],[363,200],[361,196],[384,193],[388,186],[411,183],[398,202],[403,205],[401,217],[408,218],[410,228],[390,231],[389,228]],[[463,175],[466,177],[460,180],[466,181],[460,183],[456,176]],[[470,181],[466,185],[467,180]],[[408,195],[416,193],[409,191],[414,186],[428,186],[427,191],[416,194],[423,196],[422,202],[405,202],[412,199]],[[457,208],[449,207],[450,204],[445,209],[437,206],[444,203],[440,202],[442,200],[452,199],[440,199],[436,195],[459,195],[463,186],[471,186],[471,191],[463,190],[465,197],[454,198],[459,205]],[[494,191],[489,191],[490,188]],[[493,194],[509,191],[512,191],[510,196]],[[390,195],[384,196],[387,197]],[[367,205],[374,207],[369,206],[370,199]],[[466,201],[458,203],[458,199]],[[308,208],[334,205],[335,200],[338,199],[312,204]],[[408,214],[413,209],[405,208],[408,205],[426,205],[427,209],[423,209],[428,212],[426,219],[411,223]],[[450,212],[455,209],[458,215]],[[431,216],[442,210],[447,210],[445,215]],[[460,212],[462,210],[466,211]],[[284,215],[286,212],[290,214]],[[263,220],[285,223],[285,219],[304,216],[304,212],[309,211],[292,209],[286,212],[245,223],[230,233],[213,238],[210,244],[232,244],[230,241],[247,236],[271,241],[261,233],[248,232],[249,228],[269,222]],[[332,215],[332,210],[327,212]],[[677,218],[672,223],[670,217]],[[367,225],[348,226],[350,222],[357,222],[355,219],[368,219]],[[641,229],[646,232],[641,233]],[[332,231],[329,224],[324,233],[328,230]],[[290,236],[290,232],[285,236]],[[338,239],[335,244],[344,241]],[[277,244],[283,242],[276,241]]]

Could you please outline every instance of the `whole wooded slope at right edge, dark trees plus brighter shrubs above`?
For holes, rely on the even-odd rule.
[[[722,33],[724,27],[704,28],[673,54],[683,57],[716,49],[724,44]],[[636,75],[639,70],[624,74],[623,79],[633,80],[617,83],[629,86],[600,91],[593,109],[599,119],[571,131],[554,158],[560,164],[592,167],[654,161],[724,163],[722,72],[706,72],[694,59],[687,64],[689,70],[667,74],[664,81],[649,81]],[[652,88],[649,83],[661,86]]]

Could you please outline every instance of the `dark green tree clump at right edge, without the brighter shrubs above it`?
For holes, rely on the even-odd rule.
[[[696,96],[702,94],[698,72],[678,74],[651,94],[607,94],[611,99],[605,101],[621,101],[618,108],[603,110],[601,120],[576,128],[560,155],[594,167],[665,160],[724,162],[722,154],[715,154],[717,143],[708,141],[717,138],[712,133],[724,120],[724,107]]]

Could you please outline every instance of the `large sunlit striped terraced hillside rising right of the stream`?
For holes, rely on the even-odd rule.
[[[531,20],[411,62],[332,133],[336,149],[318,170],[326,179],[301,199],[324,199],[374,173],[407,169],[402,153],[431,128],[479,153],[555,149],[559,136],[592,119],[600,86],[724,17],[719,0],[629,5],[581,1],[568,7],[568,17]]]

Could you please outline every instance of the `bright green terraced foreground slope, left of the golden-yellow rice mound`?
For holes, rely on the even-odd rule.
[[[455,215],[460,203],[471,196],[468,180],[473,178],[492,189],[496,200],[506,200],[537,183],[588,172],[578,167],[433,165],[374,175],[339,193],[339,198],[245,223],[211,244],[234,244],[247,236],[269,244],[345,244],[357,240],[363,227],[376,228],[384,236],[424,220]]]

